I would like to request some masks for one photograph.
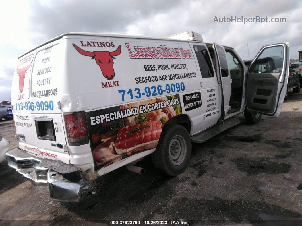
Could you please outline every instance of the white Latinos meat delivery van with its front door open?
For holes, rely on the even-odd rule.
[[[62,34],[19,57],[11,92],[19,148],[7,152],[8,165],[68,202],[79,200],[81,179],[124,165],[141,173],[133,164],[149,154],[177,175],[191,142],[238,124],[238,114],[250,123],[278,116],[288,68],[288,43],[262,47],[248,70],[233,48],[191,31]]]

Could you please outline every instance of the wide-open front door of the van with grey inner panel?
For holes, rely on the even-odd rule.
[[[247,110],[278,117],[287,90],[288,73],[289,43],[263,46],[249,66]]]

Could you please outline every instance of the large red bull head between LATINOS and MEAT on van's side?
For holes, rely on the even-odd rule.
[[[82,55],[92,56],[91,59],[95,59],[95,62],[97,63],[97,65],[100,66],[103,76],[105,78],[107,78],[108,80],[111,80],[114,78],[113,59],[115,59],[114,56],[120,55],[120,45],[113,52],[109,52],[109,51],[89,52],[89,51],[85,51],[85,50],[79,48],[75,44],[72,44],[72,45]]]

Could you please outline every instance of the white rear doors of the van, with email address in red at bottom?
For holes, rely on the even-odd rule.
[[[12,82],[19,147],[40,158],[69,164],[60,101],[64,46],[50,43],[20,58]]]

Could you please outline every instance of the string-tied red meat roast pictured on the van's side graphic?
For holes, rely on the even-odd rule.
[[[125,154],[131,151],[143,151],[155,148],[160,133],[162,123],[160,121],[147,121],[134,126],[124,127],[117,133],[115,151],[117,154]]]

